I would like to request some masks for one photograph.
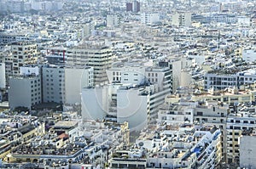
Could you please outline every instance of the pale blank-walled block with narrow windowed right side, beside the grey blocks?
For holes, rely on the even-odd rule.
[[[94,86],[92,67],[65,67],[65,104],[80,104],[84,87]]]

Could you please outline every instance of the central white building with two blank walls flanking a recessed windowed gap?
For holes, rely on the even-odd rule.
[[[125,122],[131,130],[147,126],[149,115],[148,88],[133,85],[108,85],[82,90],[84,119]]]

